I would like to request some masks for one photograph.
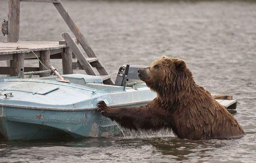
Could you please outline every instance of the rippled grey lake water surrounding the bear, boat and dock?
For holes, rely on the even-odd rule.
[[[233,94],[247,133],[235,140],[146,137],[0,140],[0,162],[256,162],[256,3],[253,1],[63,1],[115,79],[124,64],[161,55],[186,60],[212,94]],[[7,19],[0,0],[0,20]],[[20,4],[20,41],[58,41],[67,25],[51,3]],[[70,32],[71,33],[71,32]],[[0,35],[0,41],[7,40]],[[4,64],[1,62],[0,64]],[[26,63],[28,65],[37,62]],[[59,61],[52,62],[61,69]]]

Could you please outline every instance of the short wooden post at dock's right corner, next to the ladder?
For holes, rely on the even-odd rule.
[[[67,47],[64,49],[64,52],[61,53],[61,57],[62,57],[63,74],[73,74],[72,51],[70,47]]]

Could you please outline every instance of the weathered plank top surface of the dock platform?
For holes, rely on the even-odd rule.
[[[42,50],[58,50],[65,47],[67,46],[59,45],[58,42],[22,41],[17,43],[0,43],[0,55],[29,53],[31,52],[29,49],[31,49],[32,51],[42,51]]]

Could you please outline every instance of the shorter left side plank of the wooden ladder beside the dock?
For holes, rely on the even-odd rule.
[[[79,49],[79,47],[76,45],[76,43],[73,41],[72,37],[69,33],[65,32],[62,34],[62,37],[66,40],[67,45],[71,48],[73,53],[76,55],[77,60],[79,60],[79,63],[81,64],[84,71],[86,71],[89,75],[95,75],[96,73],[93,71],[93,67],[90,65],[90,63],[87,62],[85,59],[82,51]]]

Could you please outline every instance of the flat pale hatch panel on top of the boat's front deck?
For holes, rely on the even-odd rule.
[[[58,86],[54,86],[52,84],[40,83],[40,87],[38,83],[34,82],[9,82],[6,88],[1,88],[1,91],[20,91],[20,92],[28,92],[32,94],[47,94],[58,89]]]

